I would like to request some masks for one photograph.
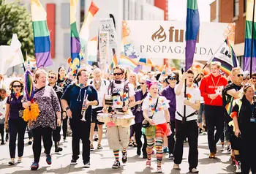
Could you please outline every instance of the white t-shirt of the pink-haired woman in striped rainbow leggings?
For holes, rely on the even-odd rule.
[[[142,110],[148,110],[148,117],[152,116],[154,107],[157,103],[157,98],[152,99],[149,95],[144,99]],[[164,124],[166,123],[165,120],[165,110],[169,108],[169,103],[167,99],[163,96],[159,96],[158,103],[157,103],[157,112],[154,113],[153,120],[156,124]]]

